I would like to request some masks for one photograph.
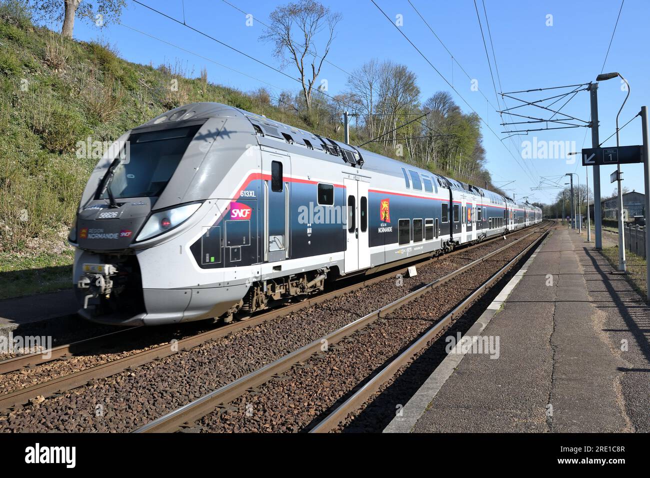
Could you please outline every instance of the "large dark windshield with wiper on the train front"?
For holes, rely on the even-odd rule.
[[[136,133],[129,137],[125,159],[116,161],[103,181],[99,198],[160,196],[201,125]],[[109,191],[110,189],[110,191]]]

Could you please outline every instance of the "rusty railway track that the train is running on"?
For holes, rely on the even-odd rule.
[[[517,231],[514,233],[519,233],[519,232],[521,231]],[[486,246],[490,243],[494,243],[495,241],[499,241],[501,237],[502,236],[497,236],[487,241],[482,241],[480,243],[477,243],[475,245],[469,245],[469,246],[464,246],[462,248],[458,248],[448,254],[443,254],[435,258],[422,259],[415,263],[409,263],[408,265],[417,265],[418,267],[430,265],[432,263],[435,263],[435,261],[439,261],[441,259],[447,259],[456,256],[458,254],[464,254],[465,252],[471,251],[474,248],[479,248],[479,247]],[[262,323],[272,321],[274,319],[278,319],[279,317],[283,317],[292,312],[309,308],[311,306],[315,306],[316,304],[326,302],[327,300],[333,299],[335,297],[339,297],[346,293],[363,289],[364,287],[367,287],[371,284],[376,284],[378,282],[381,282],[386,278],[393,278],[396,274],[405,274],[407,269],[408,269],[407,266],[391,268],[389,271],[382,272],[380,274],[375,274],[374,276],[367,278],[366,280],[363,280],[361,282],[356,282],[350,285],[339,286],[332,291],[322,293],[315,297],[310,297],[301,300],[300,302],[293,302],[281,308],[269,310],[268,312],[259,313],[257,315],[253,315],[252,317],[248,317],[247,319],[242,321],[230,323],[227,325],[222,325],[219,326],[218,328],[207,330],[205,332],[201,332],[200,334],[188,336],[186,338],[178,339],[175,341],[171,341],[171,342],[167,341],[165,343],[162,343],[161,345],[157,345],[155,347],[151,347],[143,351],[135,352],[128,356],[118,358],[117,360],[110,360],[109,362],[103,364],[87,367],[79,371],[70,373],[68,375],[63,375],[62,377],[57,377],[57,378],[53,378],[52,380],[47,380],[44,382],[34,384],[27,388],[19,388],[18,390],[14,390],[10,393],[5,393],[4,395],[0,395],[0,410],[12,410],[15,409],[17,406],[21,406],[24,405],[25,403],[28,403],[31,399],[34,399],[36,397],[46,398],[55,394],[66,392],[68,390],[72,390],[79,386],[88,384],[92,382],[92,380],[96,380],[98,378],[110,377],[122,371],[133,369],[135,367],[148,364],[149,362],[153,362],[154,360],[171,356],[177,353],[178,351],[191,349],[192,347],[196,347],[198,345],[206,343],[207,341],[223,338],[228,334],[239,332],[244,328],[260,325]],[[116,340],[128,341],[133,339],[136,336],[136,334],[144,332],[144,330],[148,330],[148,329],[143,327],[122,329],[122,330],[117,330],[116,332],[111,332],[109,334],[103,334],[101,336],[97,336],[94,338],[88,338],[67,345],[61,345],[59,347],[56,347],[55,349],[52,349],[51,351],[52,354],[49,357],[44,356],[40,352],[37,352],[34,354],[27,354],[23,356],[10,358],[8,360],[4,360],[0,362],[0,373],[6,374],[11,372],[16,372],[19,370],[29,371],[35,369],[39,365],[52,362],[53,360],[66,360],[71,356],[72,351],[79,351],[79,350],[92,351],[94,349],[98,349],[99,347],[102,347],[103,345],[106,345],[107,343],[111,343]]]

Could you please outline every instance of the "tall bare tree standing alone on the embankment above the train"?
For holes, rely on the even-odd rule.
[[[274,25],[267,27],[261,40],[275,44],[274,56],[281,60],[283,66],[294,62],[300,73],[300,82],[305,98],[307,111],[311,111],[311,96],[314,84],[320,74],[325,57],[330,53],[334,30],[343,18],[339,13],[333,13],[314,0],[300,0],[289,3],[273,10],[269,16]],[[324,33],[325,46],[322,54],[318,54],[317,43],[320,33]],[[297,34],[299,40],[294,41]],[[320,60],[319,60],[320,59]]]

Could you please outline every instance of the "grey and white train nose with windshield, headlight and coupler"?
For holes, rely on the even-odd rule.
[[[218,273],[197,267],[190,246],[222,213],[219,185],[250,146],[251,131],[231,107],[193,103],[111,146],[88,179],[68,238],[82,317],[160,325],[218,317],[240,299],[237,287],[232,297],[207,293]]]

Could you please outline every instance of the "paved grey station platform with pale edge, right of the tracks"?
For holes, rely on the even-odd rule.
[[[384,432],[650,431],[650,308],[612,270],[553,230],[466,334],[498,354],[448,354]]]

